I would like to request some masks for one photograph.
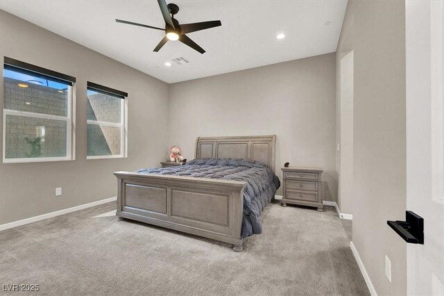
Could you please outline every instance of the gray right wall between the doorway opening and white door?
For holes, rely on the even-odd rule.
[[[350,49],[355,57],[352,240],[377,294],[406,295],[406,243],[386,225],[403,220],[406,210],[404,0],[349,1],[337,67]],[[385,255],[391,283],[384,274]]]

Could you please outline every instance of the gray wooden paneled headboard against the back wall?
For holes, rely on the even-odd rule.
[[[275,172],[276,135],[198,137],[196,158],[248,158]]]

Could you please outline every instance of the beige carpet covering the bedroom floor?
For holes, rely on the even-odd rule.
[[[118,221],[114,208],[1,231],[0,284],[39,284],[38,295],[369,295],[332,208],[270,204],[264,233],[246,239],[241,253]]]

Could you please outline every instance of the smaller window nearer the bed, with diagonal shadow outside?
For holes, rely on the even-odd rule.
[[[87,159],[126,157],[126,92],[87,83]]]

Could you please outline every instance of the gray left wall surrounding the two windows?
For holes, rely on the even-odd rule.
[[[167,83],[0,10],[3,56],[77,78],[76,160],[0,164],[0,224],[114,197],[113,171],[155,166],[164,158]],[[128,158],[86,160],[87,81],[128,92]],[[0,96],[3,102],[3,86]]]

